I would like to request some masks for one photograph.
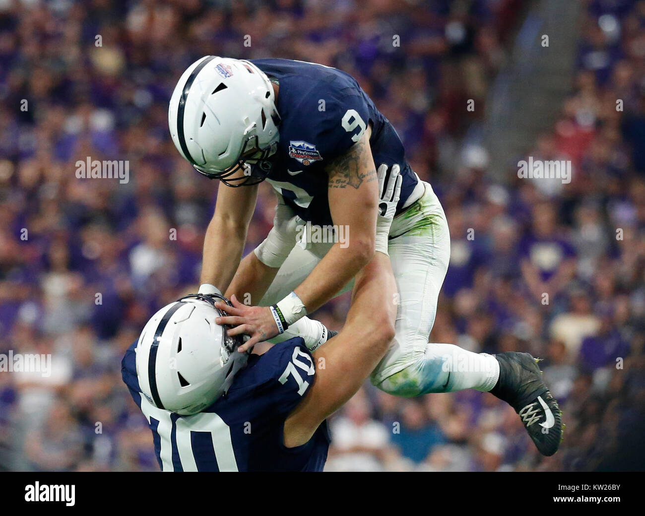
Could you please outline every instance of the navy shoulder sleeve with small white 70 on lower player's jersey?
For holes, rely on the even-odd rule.
[[[301,337],[275,344],[259,358],[251,372],[241,382],[233,382],[230,392],[252,395],[274,415],[290,413],[315,379],[313,357]]]

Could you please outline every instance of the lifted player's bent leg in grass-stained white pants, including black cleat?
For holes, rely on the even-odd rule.
[[[392,224],[394,238],[388,247],[399,287],[397,333],[372,373],[372,383],[399,396],[490,391],[515,409],[538,450],[553,455],[562,439],[561,412],[529,353],[493,357],[428,342],[450,259],[448,224],[430,185],[400,217]]]

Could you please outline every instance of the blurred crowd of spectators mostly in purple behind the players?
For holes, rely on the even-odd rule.
[[[0,372],[0,469],[158,469],[120,361],[152,313],[197,287],[217,188],[175,150],[167,103],[206,54],[357,77],[448,216],[452,257],[430,341],[543,357],[564,410],[562,449],[543,459],[488,393],[401,399],[366,385],[332,418],[328,470],[635,467],[645,2],[583,3],[574,88],[553,127],[527,142],[534,159],[571,160],[561,184],[512,167],[493,181],[486,150],[464,145],[483,110],[463,106],[485,101],[522,0],[0,0],[0,353],[52,355],[50,375]],[[87,157],[128,160],[130,181],[77,178]],[[246,252],[274,206],[261,185]],[[314,317],[340,329],[347,309],[345,295]]]

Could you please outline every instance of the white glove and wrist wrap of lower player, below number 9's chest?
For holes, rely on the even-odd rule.
[[[277,197],[278,203],[275,206],[273,228],[254,251],[259,261],[272,268],[282,266],[295,247],[298,226],[304,224],[303,219],[284,203],[284,197],[280,194],[277,194]]]

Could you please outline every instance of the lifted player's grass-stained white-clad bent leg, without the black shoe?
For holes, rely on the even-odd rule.
[[[416,396],[493,388],[499,375],[495,357],[453,344],[428,342],[437,297],[450,260],[450,232],[432,187],[392,224],[388,251],[399,287],[396,338],[372,374],[385,392]]]

